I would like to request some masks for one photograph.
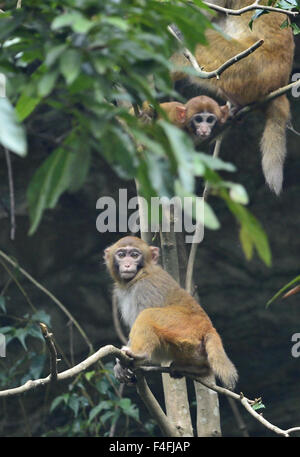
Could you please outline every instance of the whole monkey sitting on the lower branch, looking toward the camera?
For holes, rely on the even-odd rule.
[[[124,352],[136,363],[172,362],[176,371],[211,371],[233,389],[238,374],[222,340],[196,300],[160,267],[159,248],[133,236],[105,249],[114,296],[131,328]]]

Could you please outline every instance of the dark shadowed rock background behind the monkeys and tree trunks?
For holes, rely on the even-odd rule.
[[[295,69],[297,72],[297,68]],[[290,97],[295,127],[300,130],[300,107]],[[249,209],[262,223],[270,240],[273,263],[267,268],[255,257],[245,259],[238,238],[238,227],[222,202],[211,199],[221,229],[205,232],[199,247],[194,274],[201,303],[223,337],[225,348],[236,364],[240,381],[237,390],[247,396],[263,397],[264,415],[282,428],[300,425],[300,358],[291,354],[291,338],[300,332],[300,294],[278,300],[269,309],[266,302],[293,277],[300,274],[300,154],[299,137],[288,133],[288,158],[284,190],[277,198],[265,186],[258,141],[261,117],[251,115],[232,129],[224,141],[222,158],[233,162],[238,172],[230,177],[246,187]],[[96,230],[96,201],[100,196],[117,197],[122,182],[102,163],[85,187],[75,195],[64,195],[57,208],[43,218],[37,233],[27,236],[28,218],[25,191],[33,171],[40,163],[38,151],[28,159],[14,158],[17,202],[16,240],[9,240],[9,220],[0,208],[0,246],[18,259],[20,265],[42,282],[69,308],[95,347],[120,344],[111,317],[110,284],[102,261],[102,251],[117,235]],[[5,162],[1,156],[0,191],[2,203],[8,200]],[[97,171],[100,170],[100,171]],[[0,290],[5,275],[0,266]],[[52,316],[53,330],[62,347],[68,345],[65,316],[31,284],[22,280],[38,308]],[[24,299],[11,289],[11,313],[27,311]],[[11,308],[10,308],[11,307]],[[86,347],[76,337],[76,359],[86,355]],[[32,404],[39,393],[31,397]],[[13,401],[13,400],[12,400]],[[9,403],[9,402],[7,402]],[[13,405],[13,403],[11,403]],[[9,407],[8,407],[9,408]],[[38,430],[38,408],[29,407],[33,428]],[[270,435],[244,411],[242,415],[251,436]],[[239,431],[226,399],[221,399],[223,433],[238,436]],[[9,421],[8,421],[9,422]],[[21,434],[22,423],[7,423],[5,434]]]

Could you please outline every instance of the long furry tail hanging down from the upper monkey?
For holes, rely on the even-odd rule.
[[[289,101],[285,95],[271,101],[266,108],[266,125],[260,144],[262,168],[267,184],[277,195],[282,189],[286,126],[289,118]]]

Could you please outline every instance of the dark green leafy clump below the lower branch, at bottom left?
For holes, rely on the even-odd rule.
[[[118,385],[112,372],[111,363],[105,365],[104,371],[88,371],[79,382],[69,386],[69,392],[57,396],[50,413],[59,412],[63,424],[46,436],[109,436],[117,422],[123,428],[122,436],[127,436],[129,421],[132,422],[130,430],[136,425],[153,433],[152,421],[142,424],[139,410],[131,399],[117,395]]]

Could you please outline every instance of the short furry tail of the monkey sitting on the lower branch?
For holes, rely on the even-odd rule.
[[[214,374],[220,378],[226,387],[233,390],[238,380],[238,373],[227,357],[222,340],[216,331],[206,335],[205,349],[209,365]]]

